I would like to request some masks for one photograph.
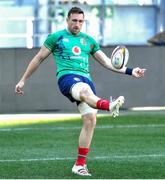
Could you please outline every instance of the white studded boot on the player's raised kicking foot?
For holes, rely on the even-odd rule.
[[[119,115],[119,109],[124,104],[124,96],[119,96],[116,100],[110,102],[110,112],[113,117]]]

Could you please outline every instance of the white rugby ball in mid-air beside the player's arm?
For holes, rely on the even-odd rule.
[[[111,54],[111,63],[114,68],[123,68],[129,59],[129,51],[125,46],[117,46]]]

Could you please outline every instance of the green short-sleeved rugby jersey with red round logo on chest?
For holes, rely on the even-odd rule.
[[[44,46],[54,56],[57,78],[65,74],[78,74],[91,79],[89,57],[100,49],[92,37],[82,32],[73,35],[65,29],[49,35]]]

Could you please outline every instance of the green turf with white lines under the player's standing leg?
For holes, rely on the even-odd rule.
[[[165,178],[164,117],[99,117],[88,158],[91,178]],[[0,178],[82,179],[71,173],[80,127],[79,119],[1,127]]]

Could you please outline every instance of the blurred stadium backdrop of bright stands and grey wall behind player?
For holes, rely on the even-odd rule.
[[[15,84],[48,34],[65,27],[67,11],[85,11],[83,31],[111,54],[119,44],[130,51],[129,67],[147,72],[143,79],[115,74],[91,61],[99,96],[124,95],[124,109],[165,106],[165,1],[164,0],[0,0],[0,113],[77,112],[57,87],[52,57],[25,86],[25,96],[14,93]]]

